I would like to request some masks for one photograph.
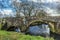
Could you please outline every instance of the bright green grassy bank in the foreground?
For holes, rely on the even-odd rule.
[[[40,36],[24,35],[17,32],[0,31],[0,40],[53,40],[52,38],[44,38]]]

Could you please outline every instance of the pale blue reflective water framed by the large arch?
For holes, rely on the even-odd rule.
[[[32,35],[50,35],[50,29],[48,24],[30,26],[28,32]]]

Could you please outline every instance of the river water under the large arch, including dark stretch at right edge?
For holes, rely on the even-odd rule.
[[[48,24],[34,25],[30,26],[27,31],[31,35],[42,35],[42,36],[50,36],[54,38],[54,40],[60,40],[60,34],[56,34],[50,31]]]

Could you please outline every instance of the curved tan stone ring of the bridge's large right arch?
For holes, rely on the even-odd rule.
[[[34,21],[31,21],[28,23],[27,25],[27,29],[29,28],[29,26],[32,24],[32,23],[35,23],[35,22],[43,22],[43,23],[46,23],[49,25],[49,28],[50,28],[50,31],[52,32],[55,32],[55,29],[54,29],[54,22],[51,22],[51,21],[43,21],[43,20],[34,20]]]

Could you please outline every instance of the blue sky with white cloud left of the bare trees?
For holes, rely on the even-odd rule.
[[[0,0],[0,12],[4,16],[14,15],[15,10],[11,6],[11,0]]]

